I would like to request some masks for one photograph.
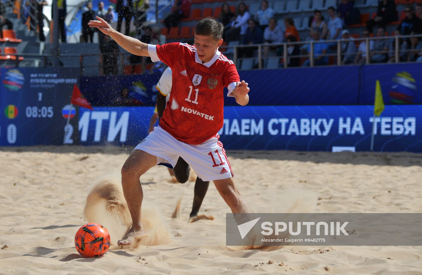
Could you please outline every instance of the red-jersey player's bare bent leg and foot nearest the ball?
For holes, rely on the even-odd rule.
[[[123,240],[117,242],[120,246],[130,245],[135,237],[144,234],[141,221],[141,204],[143,192],[139,177],[157,164],[157,157],[142,150],[134,150],[122,167],[122,187],[127,207],[132,217],[132,227]]]

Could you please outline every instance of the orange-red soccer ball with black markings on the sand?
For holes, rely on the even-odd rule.
[[[102,225],[87,223],[76,232],[75,247],[85,258],[103,256],[110,247],[110,234]]]

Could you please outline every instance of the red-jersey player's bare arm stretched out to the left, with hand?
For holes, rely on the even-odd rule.
[[[117,32],[113,29],[104,19],[96,16],[97,20],[89,21],[88,25],[93,28],[99,29],[103,34],[110,35],[120,47],[127,50],[129,53],[132,53],[136,56],[149,56],[148,53],[148,44],[139,41],[130,36],[126,36]]]

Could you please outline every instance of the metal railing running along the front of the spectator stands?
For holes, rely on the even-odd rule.
[[[233,46],[222,46],[220,47],[220,50],[222,49],[232,49],[233,51],[230,53],[230,55],[227,54],[228,58],[232,58],[236,66],[238,66],[238,69],[241,69],[240,61],[243,60],[254,60],[259,61],[257,64],[257,69],[263,69],[265,66],[263,66],[263,61],[269,58],[283,58],[284,61],[287,61],[288,58],[307,58],[309,59],[309,65],[315,66],[315,58],[314,56],[314,46],[318,43],[334,43],[333,45],[337,47],[335,51],[332,53],[326,53],[322,54],[320,56],[323,57],[329,57],[333,56],[334,59],[336,59],[337,62],[335,62],[335,65],[341,65],[341,60],[344,57],[344,53],[341,52],[341,43],[342,42],[360,42],[365,41],[366,44],[366,52],[369,54],[366,54],[365,56],[365,64],[371,64],[371,56],[376,54],[385,54],[390,59],[390,62],[399,63],[399,62],[406,62],[407,59],[404,61],[400,61],[401,55],[406,55],[411,52],[421,52],[422,49],[400,49],[400,40],[409,40],[411,37],[419,37],[422,38],[421,34],[418,35],[401,35],[401,36],[394,36],[394,37],[368,37],[368,38],[357,38],[357,39],[347,39],[347,40],[321,40],[321,41],[304,41],[304,42],[286,42],[286,43],[275,43],[275,44],[258,44],[258,45],[233,45]],[[369,41],[375,41],[375,40],[389,40],[390,44],[394,43],[394,47],[390,47],[389,50],[370,50],[370,44]],[[287,47],[289,45],[308,45],[308,48],[310,49],[309,53],[307,54],[300,54],[300,55],[288,55]],[[282,56],[267,56],[264,57],[262,50],[264,47],[273,47],[273,46],[282,46],[283,50]],[[258,49],[257,56],[255,57],[248,57],[248,58],[240,58],[239,57],[239,51],[242,48],[249,48],[254,47]],[[223,52],[226,54],[226,52]],[[356,55],[357,53],[350,53],[350,55]],[[0,61],[0,66],[20,66],[20,64],[23,62],[19,60],[19,57],[24,57],[24,61],[27,64],[27,61],[31,60],[38,60],[36,62],[36,66],[39,67],[49,67],[51,66],[51,59],[54,57],[53,54],[29,54],[29,53],[17,53],[17,54],[10,54],[11,56],[16,56],[16,60],[8,60],[8,61]],[[232,56],[231,56],[232,55]],[[120,53],[95,53],[95,54],[60,54],[59,58],[62,60],[62,65],[65,67],[75,67],[80,69],[81,75],[87,75],[91,74],[93,71],[96,71],[97,74],[103,74],[103,70],[101,69],[103,67],[103,58],[104,56],[114,56],[116,59],[116,63],[114,64],[114,72],[117,71],[117,74],[123,74],[124,73],[124,66],[141,66],[141,69],[139,71],[145,72],[147,71],[147,63],[146,58],[142,57],[141,62],[139,63],[131,63],[130,62],[130,56],[132,56],[130,53],[127,53],[126,51],[120,52]],[[388,61],[388,60],[387,60]],[[384,62],[387,63],[387,62]],[[362,64],[362,63],[360,63]],[[329,65],[333,66],[333,65]],[[288,67],[287,62],[283,63],[284,68]],[[138,67],[139,69],[139,67]]]

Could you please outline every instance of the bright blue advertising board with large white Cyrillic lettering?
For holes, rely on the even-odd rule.
[[[135,146],[153,107],[80,108],[81,144]],[[375,151],[422,152],[422,105],[386,106],[376,117]],[[219,131],[227,150],[369,151],[373,106],[226,106]]]

